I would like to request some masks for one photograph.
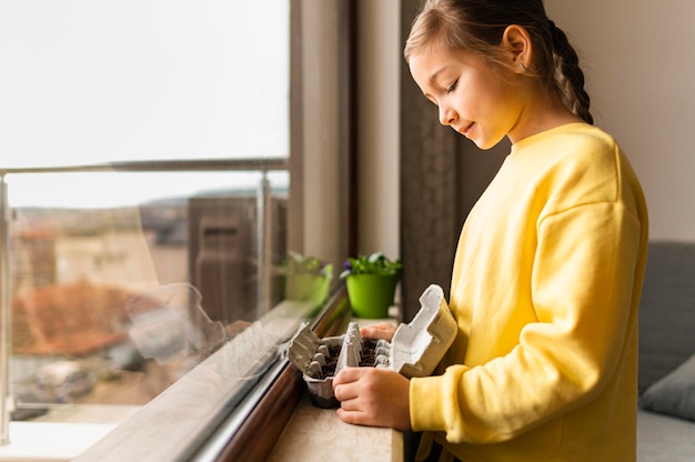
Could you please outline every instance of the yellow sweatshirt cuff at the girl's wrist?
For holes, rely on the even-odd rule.
[[[446,429],[443,413],[443,376],[411,379],[410,412],[413,431],[437,431]]]

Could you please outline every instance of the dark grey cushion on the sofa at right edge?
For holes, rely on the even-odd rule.
[[[649,386],[639,398],[639,405],[695,421],[695,354]]]

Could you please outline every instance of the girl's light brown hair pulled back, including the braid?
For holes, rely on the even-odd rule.
[[[508,67],[500,43],[511,24],[524,27],[536,50],[531,76],[593,124],[584,72],[567,36],[547,18],[543,0],[426,0],[413,21],[405,59],[433,44],[481,53],[493,67]]]

